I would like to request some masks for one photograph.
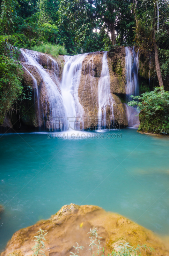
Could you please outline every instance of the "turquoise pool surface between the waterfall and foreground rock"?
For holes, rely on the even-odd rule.
[[[98,205],[169,235],[169,137],[111,133],[122,139],[1,135],[1,249],[15,231],[70,203]]]

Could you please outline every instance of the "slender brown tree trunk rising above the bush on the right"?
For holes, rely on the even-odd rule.
[[[156,22],[156,4],[154,5],[153,45],[154,45],[154,52],[155,52],[155,64],[156,64],[158,82],[159,82],[159,86],[163,87],[163,79],[162,79],[160,64],[158,60],[158,49],[157,49],[157,43],[156,43],[156,37],[155,37],[155,22]]]

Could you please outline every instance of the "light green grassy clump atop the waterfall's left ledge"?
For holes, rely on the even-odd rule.
[[[32,50],[37,52],[48,53],[54,57],[57,57],[58,55],[67,55],[67,51],[65,50],[64,46],[60,44],[35,45],[32,47]]]

